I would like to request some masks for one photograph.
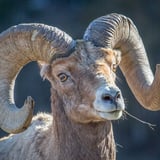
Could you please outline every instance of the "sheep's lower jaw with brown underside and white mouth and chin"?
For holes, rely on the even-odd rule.
[[[125,105],[123,99],[117,102],[104,102],[95,99],[90,104],[78,104],[77,106],[67,108],[70,108],[70,110],[65,110],[69,119],[86,124],[90,122],[117,120],[121,118]]]

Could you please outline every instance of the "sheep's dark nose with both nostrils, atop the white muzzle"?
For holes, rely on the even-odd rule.
[[[113,93],[105,92],[102,94],[102,100],[106,102],[117,102],[118,100],[121,99],[121,92],[117,89],[112,91]]]

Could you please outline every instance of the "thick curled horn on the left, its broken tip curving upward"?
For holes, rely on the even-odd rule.
[[[20,69],[30,61],[49,63],[74,47],[63,31],[43,24],[20,24],[0,34],[0,127],[8,133],[25,130],[31,122],[33,100],[22,108],[14,104],[13,88]]]

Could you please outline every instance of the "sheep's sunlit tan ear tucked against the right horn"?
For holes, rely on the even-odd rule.
[[[107,60],[113,63],[113,59],[115,59],[115,64],[118,66],[121,62],[121,52],[119,50],[113,50],[110,48],[101,48],[101,51],[107,55]]]

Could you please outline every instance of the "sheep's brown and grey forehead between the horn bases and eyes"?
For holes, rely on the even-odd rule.
[[[60,69],[84,68],[94,70],[106,66],[112,61],[113,54],[106,50],[94,47],[89,42],[78,42],[75,51],[68,57],[58,58],[52,66]]]

